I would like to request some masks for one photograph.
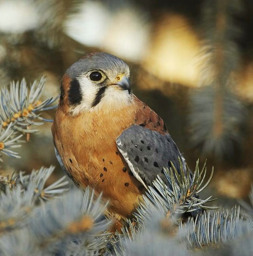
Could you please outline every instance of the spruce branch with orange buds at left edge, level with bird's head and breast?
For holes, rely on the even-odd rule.
[[[22,134],[37,132],[31,129],[32,125],[52,121],[43,118],[41,112],[55,108],[56,105],[52,104],[58,97],[41,100],[45,83],[46,77],[42,76],[34,81],[30,90],[25,79],[0,89],[0,151],[7,156],[20,158],[12,149],[21,147],[20,142],[24,142],[20,140]]]

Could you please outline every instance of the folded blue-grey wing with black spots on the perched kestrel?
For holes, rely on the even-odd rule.
[[[168,184],[163,168],[170,168],[171,162],[180,172],[179,159],[186,172],[186,162],[169,134],[151,131],[139,125],[126,129],[116,140],[117,147],[122,154],[135,178],[145,188],[152,185],[157,176]]]

